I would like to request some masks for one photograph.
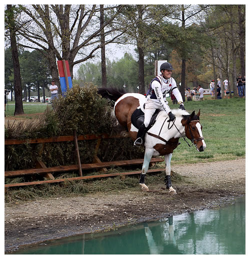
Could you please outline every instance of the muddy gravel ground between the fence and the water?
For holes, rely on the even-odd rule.
[[[26,244],[109,230],[186,212],[218,208],[245,195],[245,159],[173,165],[183,176],[170,196],[164,183],[149,192],[121,190],[5,204],[5,252]],[[103,190],[104,191],[104,190]]]

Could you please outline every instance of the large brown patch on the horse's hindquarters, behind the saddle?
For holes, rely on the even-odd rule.
[[[131,115],[138,106],[139,100],[135,97],[128,96],[120,100],[114,109],[114,114],[119,124],[130,129]]]

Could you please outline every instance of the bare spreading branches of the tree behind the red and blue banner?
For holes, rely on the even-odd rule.
[[[102,27],[98,26],[95,18],[100,12],[95,4],[32,4],[19,7],[23,15],[19,20],[21,26],[18,32],[26,40],[25,44],[19,44],[43,50],[49,61],[51,76],[59,86],[56,59],[68,60],[73,77],[73,66],[94,57],[96,50],[101,47],[101,31],[117,17],[123,5],[103,7],[108,15]],[[112,35],[113,32],[113,29],[106,30],[105,35]],[[110,36],[105,44],[113,42],[122,33]]]

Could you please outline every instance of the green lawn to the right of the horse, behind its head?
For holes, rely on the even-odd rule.
[[[171,104],[170,108],[178,107]],[[180,139],[174,150],[172,164],[232,160],[245,157],[245,99],[190,101],[185,109],[195,113],[200,109],[200,123],[206,143],[204,152],[197,152]]]

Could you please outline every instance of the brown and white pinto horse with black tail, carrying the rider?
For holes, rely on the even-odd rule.
[[[144,112],[145,96],[139,93],[123,94],[119,90],[117,91],[113,88],[106,88],[105,91],[108,93],[108,99],[115,101],[113,109],[118,123],[128,131],[132,140],[135,141],[139,125],[143,123],[143,116],[137,116],[137,120],[135,117]],[[101,94],[101,92],[99,93]],[[183,137],[184,140],[185,137],[187,137],[192,145],[196,147],[198,152],[203,152],[206,148],[202,135],[202,126],[199,122],[200,110],[197,114],[195,114],[195,111],[189,114],[185,110],[172,109],[172,113],[175,115],[175,120],[173,122],[168,120],[169,117],[166,112],[159,111],[153,116],[153,121],[150,122],[147,128],[147,132],[143,139],[145,153],[139,179],[139,185],[141,186],[142,191],[149,191],[148,187],[145,185],[144,178],[151,157],[164,156],[166,189],[168,194],[176,194],[176,191],[171,185],[170,161],[173,150],[179,144],[178,141],[180,137]],[[136,124],[139,120],[140,123]]]

